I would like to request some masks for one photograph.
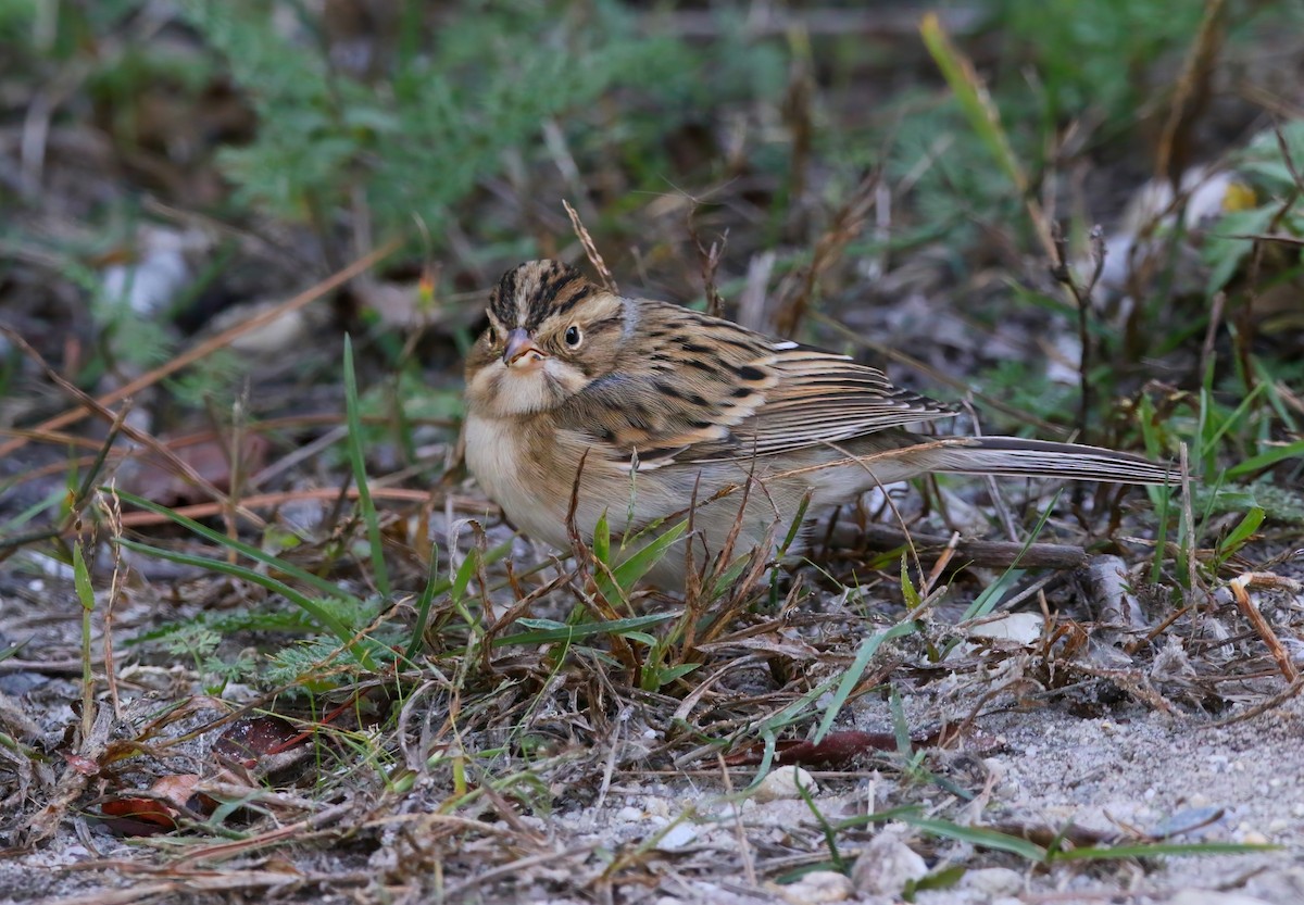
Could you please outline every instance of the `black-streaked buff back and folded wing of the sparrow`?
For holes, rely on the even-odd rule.
[[[952,411],[848,356],[780,342],[675,305],[639,301],[647,346],[558,412],[640,469],[772,455]]]

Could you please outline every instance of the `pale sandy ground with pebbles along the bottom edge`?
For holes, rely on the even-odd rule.
[[[973,704],[966,694],[947,682],[908,692],[908,716],[917,722],[930,715],[962,713]],[[904,878],[925,866],[936,871],[947,863],[962,863],[969,871],[958,883],[921,891],[914,901],[1304,902],[1304,702],[1294,699],[1221,728],[1211,726],[1206,716],[1166,715],[1129,703],[1099,716],[1071,711],[1063,700],[1034,709],[996,708],[979,717],[970,741],[956,750],[934,751],[926,763],[956,785],[983,789],[970,809],[979,824],[1060,829],[1073,824],[1106,833],[1196,827],[1175,841],[1267,842],[1279,848],[1252,854],[1061,863],[1043,870],[1013,855],[975,852],[964,842],[928,838],[902,824],[889,824],[838,835],[841,857],[854,865],[852,879],[825,872],[781,887],[773,878],[786,871],[776,866],[808,867],[828,854],[811,809],[782,789],[771,801],[760,801],[764,794],[752,794],[748,801],[730,797],[711,769],[673,777],[629,767],[636,762],[630,754],[656,734],[631,724],[627,750],[621,754],[629,768],[617,769],[604,793],[584,803],[570,803],[562,795],[552,815],[524,818],[526,828],[541,840],[545,857],[524,858],[509,874],[458,874],[450,863],[443,893],[447,901],[473,902],[885,904],[901,898],[878,888],[900,888]],[[862,698],[849,722],[884,732],[889,728],[888,707],[880,699]],[[911,789],[900,771],[812,772],[819,784],[814,803],[831,822],[901,801],[927,807],[948,799],[945,790],[927,784]],[[745,772],[732,775],[735,785],[746,782]],[[270,858],[227,862],[213,871],[173,861],[184,848],[160,855],[77,820],[35,852],[10,854],[0,862],[0,901],[250,901],[261,892],[273,901],[323,904],[439,898],[428,875],[378,880],[404,874],[400,862],[407,849],[395,833],[382,833],[378,845],[296,844],[269,853]],[[613,857],[640,849],[645,854],[617,871],[612,884],[602,883]],[[546,857],[548,852],[553,854]],[[168,862],[173,872],[155,872]]]

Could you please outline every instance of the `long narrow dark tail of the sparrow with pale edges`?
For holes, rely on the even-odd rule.
[[[927,455],[934,471],[957,475],[1065,477],[1119,484],[1171,484],[1178,479],[1172,464],[1150,462],[1131,452],[1017,437],[955,437],[938,443]]]

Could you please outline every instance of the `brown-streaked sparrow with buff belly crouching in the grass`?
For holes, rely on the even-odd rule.
[[[511,523],[562,549],[572,492],[585,542],[604,515],[629,537],[691,509],[679,542],[705,565],[930,472],[1163,484],[1171,471],[1094,446],[911,433],[955,409],[850,356],[617,295],[557,261],[509,270],[486,313],[466,364],[466,462]],[[682,589],[687,562],[672,550],[647,580]]]

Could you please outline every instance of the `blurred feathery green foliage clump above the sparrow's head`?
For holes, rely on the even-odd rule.
[[[707,100],[700,53],[638,34],[605,0],[467,4],[430,47],[400,44],[370,82],[333,67],[306,18],[276,27],[284,10],[254,0],[184,8],[258,113],[254,141],[220,155],[236,203],[291,220],[348,207],[363,189],[382,226],[415,216],[438,232],[450,205],[503,168],[506,151],[539,163],[539,133],[556,117],[569,117],[584,171],[625,142],[655,141]],[[738,50],[726,57],[730,77],[715,82],[717,100],[775,87],[763,72],[750,77],[764,61]],[[599,98],[618,89],[648,103],[632,96],[609,120],[591,119]]]

